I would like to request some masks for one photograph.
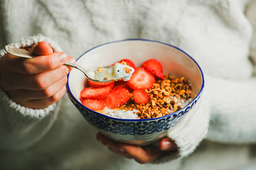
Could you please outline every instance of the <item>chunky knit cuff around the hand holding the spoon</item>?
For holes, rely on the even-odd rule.
[[[36,43],[40,43],[42,41],[47,42],[54,51],[62,51],[61,48],[58,46],[58,44],[54,40],[41,34],[36,36],[29,36],[29,37],[26,37],[25,39],[22,38],[19,42],[11,43],[8,46],[12,46],[16,48],[24,48],[24,47],[32,46],[33,44],[36,44]],[[7,52],[4,49],[0,50],[0,59],[6,53]],[[42,109],[31,109],[31,108],[24,107],[16,103],[15,101],[13,101],[12,99],[10,99],[7,93],[3,90],[1,86],[0,86],[0,102],[3,102],[3,104],[9,107],[9,109],[12,110],[13,112],[18,112],[22,116],[28,116],[30,118],[36,118],[36,119],[42,119],[44,116],[48,115],[52,110],[54,110],[56,107],[56,103]]]

